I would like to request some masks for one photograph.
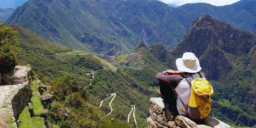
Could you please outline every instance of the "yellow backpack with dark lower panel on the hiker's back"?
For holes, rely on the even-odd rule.
[[[213,88],[202,72],[198,72],[200,78],[194,79],[191,75],[181,74],[191,85],[191,93],[188,103],[188,116],[193,120],[205,120],[211,113],[211,96]],[[191,77],[190,77],[191,76]]]

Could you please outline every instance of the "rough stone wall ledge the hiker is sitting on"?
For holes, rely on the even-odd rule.
[[[149,113],[148,128],[230,128],[228,124],[211,116],[204,121],[204,124],[196,124],[188,117],[172,112],[169,104],[162,98],[150,98]]]

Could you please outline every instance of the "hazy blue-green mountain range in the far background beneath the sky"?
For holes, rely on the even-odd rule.
[[[139,40],[149,45],[162,43],[170,49],[202,13],[255,33],[255,2],[173,8],[149,0],[30,0],[18,7],[6,24],[20,25],[71,48],[114,55],[133,51]]]

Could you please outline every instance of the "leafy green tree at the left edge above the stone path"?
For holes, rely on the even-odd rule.
[[[2,84],[10,84],[9,73],[16,66],[17,54],[19,53],[19,32],[10,26],[4,25],[0,20],[0,72]]]

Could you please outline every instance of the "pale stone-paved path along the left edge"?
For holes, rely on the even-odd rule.
[[[8,128],[10,126],[17,127],[13,116],[12,98],[14,95],[28,83],[27,71],[30,70],[28,66],[16,66],[16,72],[11,77],[13,85],[0,86],[0,127]],[[8,124],[7,124],[8,123]]]

